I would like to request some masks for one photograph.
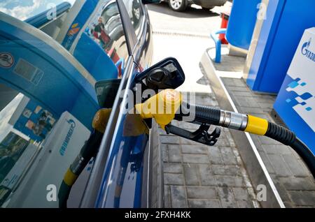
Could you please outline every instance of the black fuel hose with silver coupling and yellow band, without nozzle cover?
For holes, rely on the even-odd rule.
[[[295,133],[288,128],[259,117],[219,110],[218,108],[207,106],[190,105],[188,103],[182,103],[180,112],[175,114],[175,119],[183,121],[183,117],[192,116],[192,112],[193,116],[195,116],[193,121],[195,123],[212,124],[257,135],[265,135],[268,138],[281,142],[283,145],[290,146],[302,158],[315,178],[314,154],[296,137]]]

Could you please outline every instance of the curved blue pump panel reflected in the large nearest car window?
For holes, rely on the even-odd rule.
[[[99,106],[94,78],[64,47],[31,25],[0,13],[0,83],[20,91],[58,118],[68,111],[87,128]]]

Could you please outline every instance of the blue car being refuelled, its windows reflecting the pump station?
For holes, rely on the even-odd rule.
[[[123,109],[151,66],[153,2],[0,12],[1,207],[153,205],[151,122]]]

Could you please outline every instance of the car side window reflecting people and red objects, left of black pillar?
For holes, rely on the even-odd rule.
[[[125,71],[129,57],[123,23],[116,1],[103,1],[85,29],[85,34],[97,42],[118,68],[118,77]]]

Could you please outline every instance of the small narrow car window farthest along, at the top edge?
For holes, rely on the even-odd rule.
[[[144,20],[144,10],[140,0],[123,0],[128,15],[138,39],[140,38],[141,23]]]

